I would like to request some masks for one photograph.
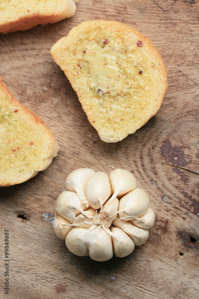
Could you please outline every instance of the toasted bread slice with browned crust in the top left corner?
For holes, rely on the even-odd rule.
[[[70,18],[78,0],[0,0],[0,32],[27,30]]]

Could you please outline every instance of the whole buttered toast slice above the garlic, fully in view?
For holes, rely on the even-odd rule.
[[[146,36],[127,25],[81,23],[50,53],[105,142],[134,133],[161,106],[168,86],[163,60]]]

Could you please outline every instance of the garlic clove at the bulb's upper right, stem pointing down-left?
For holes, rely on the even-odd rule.
[[[137,188],[137,181],[135,176],[125,169],[115,169],[109,176],[111,189],[113,195],[111,200],[115,197],[121,198],[130,191]]]

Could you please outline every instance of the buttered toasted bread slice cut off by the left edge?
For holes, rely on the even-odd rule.
[[[27,181],[45,170],[57,153],[53,133],[13,97],[0,77],[0,186]]]

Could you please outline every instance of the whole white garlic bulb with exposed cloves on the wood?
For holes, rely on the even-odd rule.
[[[109,179],[81,168],[67,177],[66,188],[55,204],[53,228],[72,253],[106,261],[146,242],[155,214],[132,173],[116,169]]]

